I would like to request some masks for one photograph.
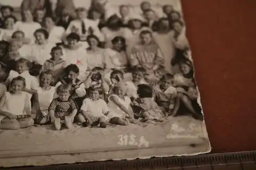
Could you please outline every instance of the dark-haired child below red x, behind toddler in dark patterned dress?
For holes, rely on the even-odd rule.
[[[61,84],[68,84],[71,86],[71,98],[82,98],[86,95],[86,87],[77,77],[79,76],[79,68],[75,64],[68,65],[63,70],[63,78],[56,84],[58,87]]]

